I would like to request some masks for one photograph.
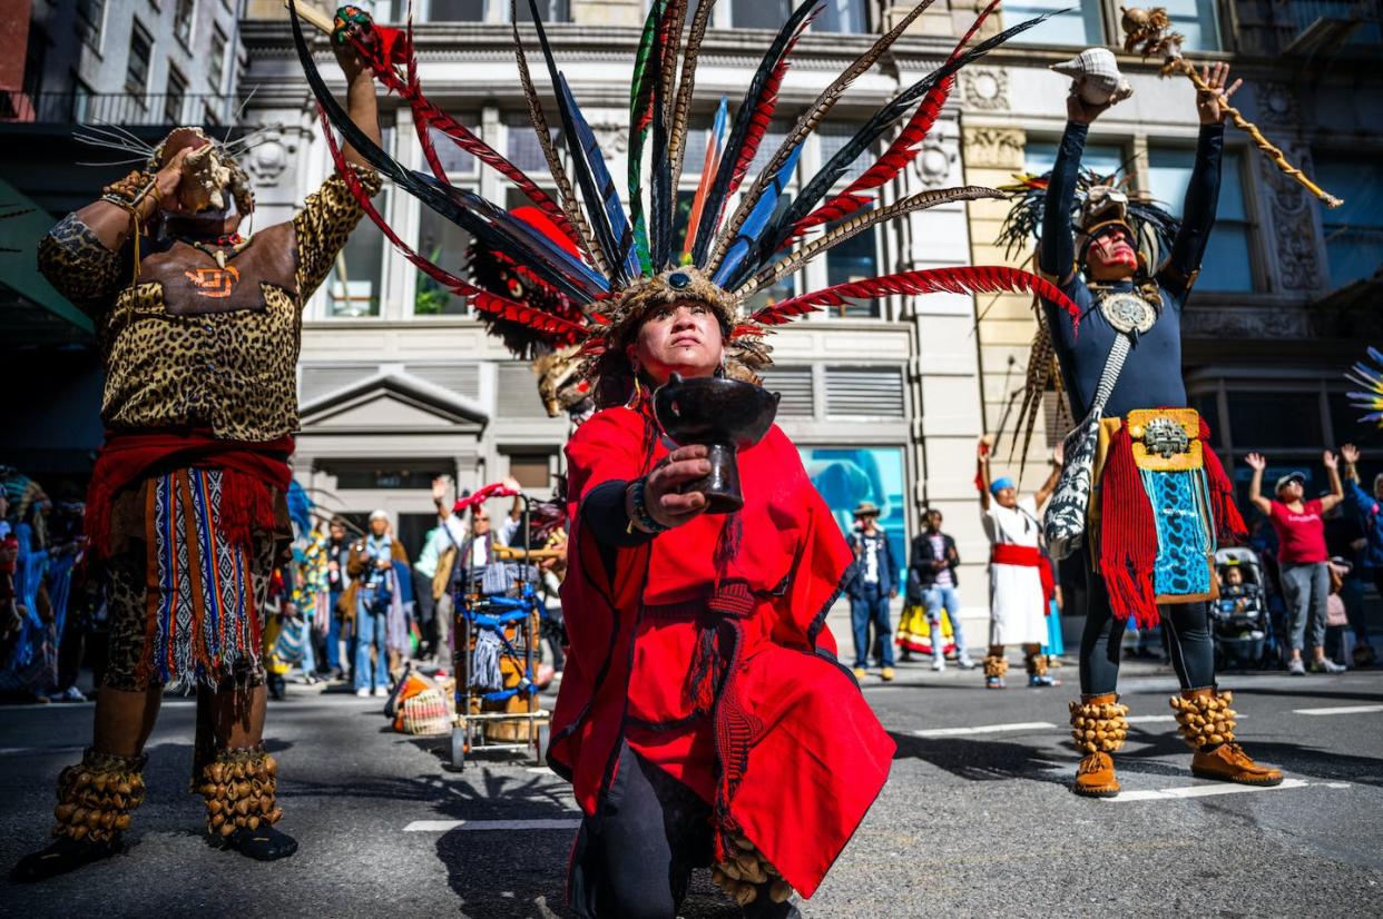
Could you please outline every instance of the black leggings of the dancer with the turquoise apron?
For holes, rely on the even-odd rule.
[[[1182,690],[1214,685],[1214,641],[1210,637],[1207,603],[1160,607],[1167,630],[1171,666]],[[1119,655],[1127,626],[1109,609],[1105,579],[1086,569],[1086,630],[1080,634],[1080,692],[1105,695],[1119,687]]]

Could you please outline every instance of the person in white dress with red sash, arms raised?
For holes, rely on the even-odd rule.
[[[1047,640],[1047,600],[1052,593],[1051,564],[1041,550],[1041,521],[1037,510],[1057,488],[1061,474],[1061,445],[1052,459],[1047,481],[1034,495],[1018,496],[1011,478],[993,480],[989,474],[989,442],[982,439],[976,452],[979,473],[979,509],[989,536],[989,654],[985,656],[985,685],[1004,688],[1008,661],[1007,645],[1023,647],[1028,685],[1058,685],[1047,674],[1041,644]]]

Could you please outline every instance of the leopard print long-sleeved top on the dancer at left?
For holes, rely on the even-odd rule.
[[[362,173],[361,184],[375,193],[380,180]],[[332,176],[290,221],[296,290],[259,281],[263,308],[187,312],[169,310],[162,283],[118,289],[122,257],[69,214],[40,246],[39,267],[75,303],[104,300],[97,328],[106,427],[209,428],[235,441],[297,430],[301,310],[361,216],[350,189]]]

